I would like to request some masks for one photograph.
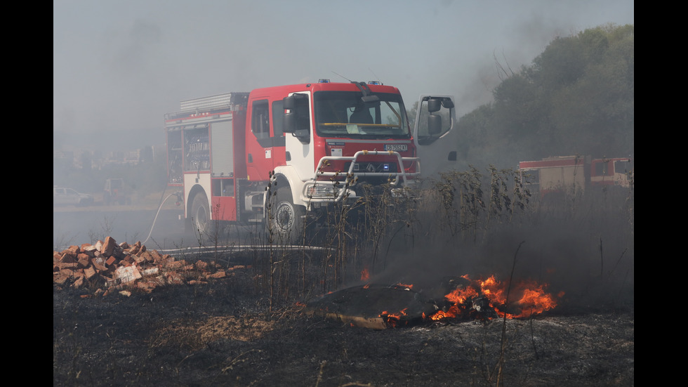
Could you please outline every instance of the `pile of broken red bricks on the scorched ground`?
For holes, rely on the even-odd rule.
[[[150,293],[170,284],[198,284],[231,275],[213,263],[187,263],[141,244],[117,242],[112,237],[95,244],[53,251],[53,288],[93,290],[93,295],[138,289]]]

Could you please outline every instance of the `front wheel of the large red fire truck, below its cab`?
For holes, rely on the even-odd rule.
[[[282,187],[270,209],[270,232],[277,242],[295,243],[303,238],[305,206],[293,204],[291,190]]]

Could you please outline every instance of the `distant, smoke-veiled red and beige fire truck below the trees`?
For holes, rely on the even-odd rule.
[[[552,193],[584,192],[587,186],[630,188],[633,176],[630,158],[546,157],[520,162],[518,169],[522,183],[540,192],[541,197]]]

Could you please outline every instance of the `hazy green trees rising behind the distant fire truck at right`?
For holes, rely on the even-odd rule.
[[[633,157],[634,27],[604,25],[554,39],[503,76],[494,102],[458,120],[460,168],[557,155]]]

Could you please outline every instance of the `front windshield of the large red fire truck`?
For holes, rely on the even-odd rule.
[[[314,95],[316,131],[322,137],[410,138],[406,110],[398,94],[376,93],[364,103],[357,91],[318,91]]]

